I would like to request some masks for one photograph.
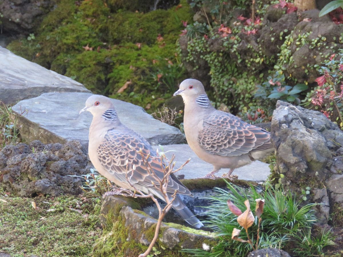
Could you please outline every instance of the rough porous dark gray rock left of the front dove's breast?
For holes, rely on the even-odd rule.
[[[4,190],[25,197],[82,192],[84,180],[78,176],[89,173],[90,167],[80,142],[62,146],[34,141],[24,145],[5,146],[0,151],[0,185]]]

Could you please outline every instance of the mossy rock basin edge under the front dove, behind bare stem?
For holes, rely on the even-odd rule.
[[[102,210],[104,233],[94,244],[93,256],[138,256],[145,252],[156,228],[156,220],[137,208],[129,198],[106,196]],[[202,244],[214,245],[211,233],[182,225],[162,224],[155,252],[160,256],[187,256],[179,252],[185,248],[200,248]],[[152,253],[153,254],[153,253]]]

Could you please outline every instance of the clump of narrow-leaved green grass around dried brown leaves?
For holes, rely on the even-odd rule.
[[[203,249],[186,249],[187,253],[194,256],[246,256],[251,250],[250,244],[241,243],[232,240],[234,228],[237,228],[237,216],[232,213],[227,205],[227,200],[234,203],[240,210],[245,210],[244,202],[248,199],[250,208],[256,208],[256,199],[264,199],[264,210],[261,215],[260,241],[258,248],[289,248],[290,245],[305,244],[305,236],[301,231],[308,231],[317,221],[315,211],[312,209],[316,204],[300,205],[300,201],[290,192],[284,192],[282,188],[268,187],[265,192],[258,192],[253,186],[244,189],[236,185],[227,183],[227,188],[215,188],[216,195],[209,199],[211,204],[207,209],[209,220],[206,227],[211,228],[217,235],[218,244],[209,251]],[[255,218],[255,224],[249,229],[249,237],[252,241],[256,240],[258,219]],[[301,233],[300,233],[301,232]],[[330,232],[327,232],[319,239],[306,237],[312,240],[312,248],[307,247],[304,254],[301,255],[301,247],[297,248],[295,254],[299,256],[310,256],[307,253],[317,254],[322,248],[329,245],[332,241]],[[255,237],[255,238],[254,238]],[[248,240],[245,233],[240,234],[242,240]],[[330,241],[331,240],[331,241]],[[293,242],[295,241],[295,242]],[[303,242],[303,243],[301,243]],[[321,246],[321,247],[320,247]],[[312,254],[311,254],[312,256]]]

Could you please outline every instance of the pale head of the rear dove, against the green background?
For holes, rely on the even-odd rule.
[[[184,100],[195,99],[200,95],[206,95],[204,86],[200,81],[187,78],[181,82],[179,90],[173,96],[181,95]]]

